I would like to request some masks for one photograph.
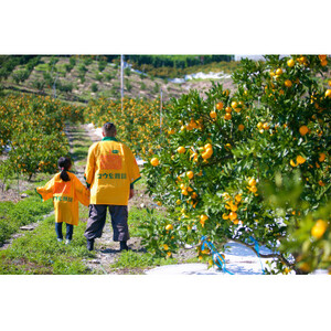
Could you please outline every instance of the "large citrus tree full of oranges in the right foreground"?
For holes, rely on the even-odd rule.
[[[213,85],[172,99],[167,131],[145,174],[168,212],[145,227],[150,250],[171,256],[197,246],[212,264],[235,241],[274,253],[273,273],[307,274],[331,265],[330,61],[327,55],[243,60],[237,88]]]

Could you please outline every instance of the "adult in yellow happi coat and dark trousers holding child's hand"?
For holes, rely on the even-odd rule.
[[[114,242],[128,250],[128,201],[135,194],[134,183],[140,172],[131,150],[116,139],[113,122],[103,126],[103,140],[88,149],[85,181],[90,189],[89,215],[86,231],[87,249],[94,249],[95,238],[102,237],[107,209],[111,216]]]

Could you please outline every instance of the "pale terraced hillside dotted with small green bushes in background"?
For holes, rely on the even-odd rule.
[[[232,79],[228,74],[233,66],[233,62],[213,63],[194,65],[191,67],[191,72],[190,68],[184,72],[225,71],[226,75],[213,81],[232,88]],[[29,63],[17,65],[11,74],[0,82],[2,89],[52,95],[63,100],[84,104],[88,103],[90,98],[118,99],[120,97],[120,66],[118,63],[96,61],[86,56],[41,56],[39,64],[33,68],[30,67],[29,71],[26,67],[29,67]],[[178,73],[180,75],[178,78],[183,78],[183,71],[179,68]],[[124,71],[124,94],[131,98],[153,99],[159,97],[160,90],[162,90],[163,100],[168,100],[188,93],[189,89],[205,92],[212,85],[211,79],[195,78],[181,83],[174,81],[154,77],[127,66]]]

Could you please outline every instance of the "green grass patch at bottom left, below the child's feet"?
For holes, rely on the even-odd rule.
[[[0,252],[1,275],[85,275],[92,274],[83,258],[95,257],[86,249],[85,222],[74,227],[70,245],[56,241],[54,216],[41,221],[41,224],[24,236],[13,241],[12,245]],[[65,227],[64,227],[65,233]]]

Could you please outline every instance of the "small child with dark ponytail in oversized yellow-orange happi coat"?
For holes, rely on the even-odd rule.
[[[66,241],[70,244],[73,238],[74,225],[78,225],[78,201],[84,205],[89,204],[89,190],[72,172],[70,158],[60,158],[56,173],[43,188],[36,188],[36,192],[43,201],[53,197],[55,209],[55,232],[57,241],[63,241],[62,223],[66,223]]]

